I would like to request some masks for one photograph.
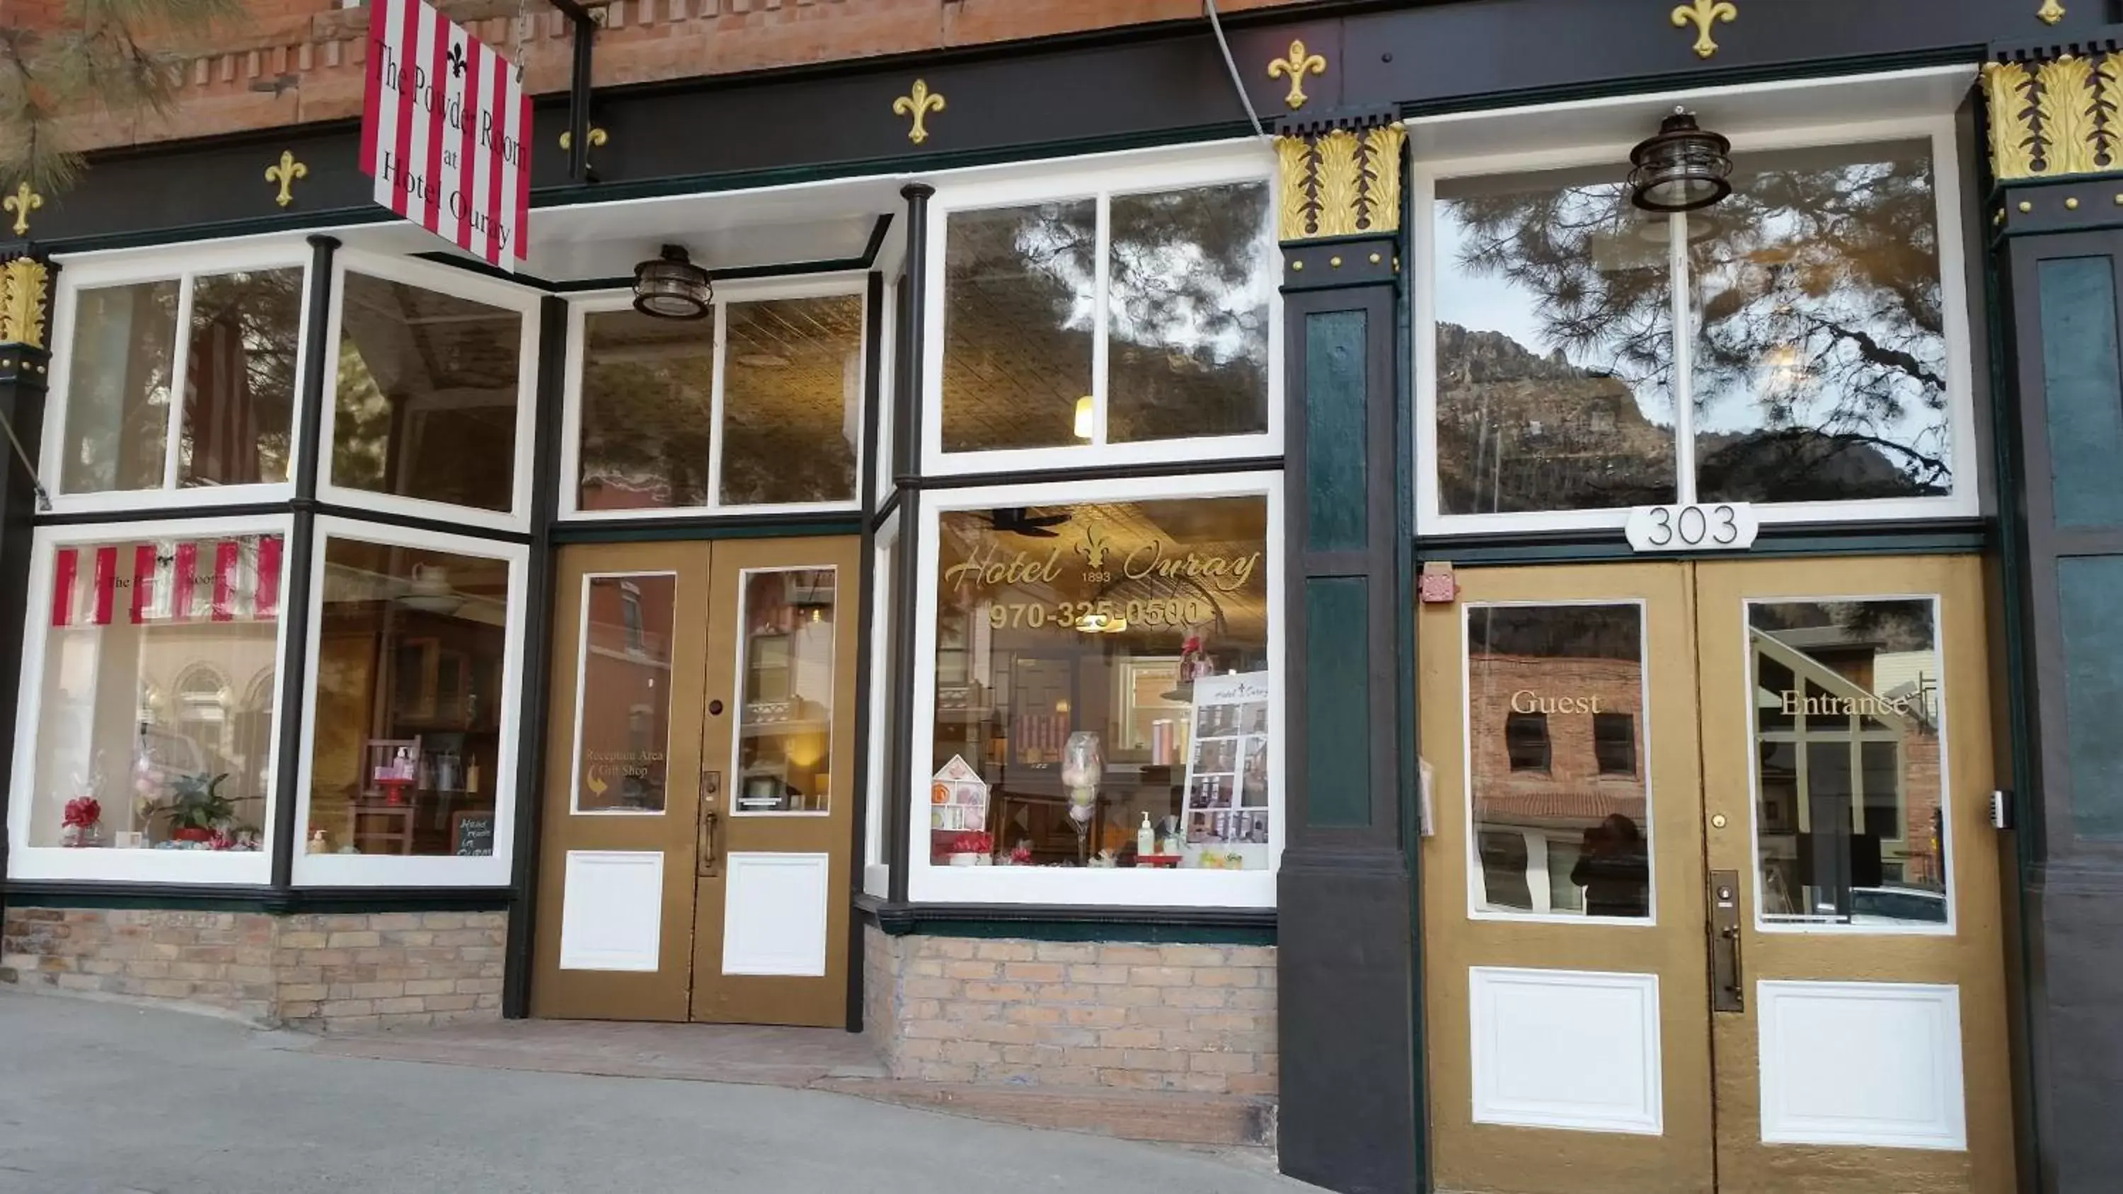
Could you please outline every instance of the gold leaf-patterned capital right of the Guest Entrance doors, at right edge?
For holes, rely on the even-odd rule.
[[[2123,170],[2123,53],[1991,62],[1983,95],[2000,182]]]

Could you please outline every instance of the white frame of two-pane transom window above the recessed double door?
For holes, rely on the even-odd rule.
[[[722,452],[728,445],[728,437],[722,428],[722,375],[726,367],[726,348],[730,337],[730,303],[764,303],[773,299],[839,299],[849,297],[862,301],[862,337],[856,346],[856,484],[845,498],[826,503],[724,503],[722,501]],[[870,337],[870,299],[868,299],[868,276],[866,274],[819,274],[811,278],[760,278],[760,280],[739,280],[739,282],[718,282],[715,303],[707,316],[713,322],[715,337],[715,380],[713,380],[713,433],[709,441],[707,460],[707,505],[690,507],[669,507],[669,509],[582,509],[582,365],[584,365],[584,329],[586,316],[592,312],[624,312],[633,305],[633,295],[626,291],[607,291],[601,295],[590,295],[573,299],[567,305],[567,388],[560,414],[560,505],[558,517],[569,522],[607,522],[607,520],[671,520],[671,517],[703,517],[703,515],[754,515],[754,513],[845,513],[862,509],[862,464],[868,458],[868,443],[862,435],[864,403],[868,403],[870,386],[870,358],[868,358],[868,337]],[[885,310],[890,312],[890,299]],[[890,358],[885,358],[885,375],[890,377]],[[890,409],[890,403],[885,405]]]

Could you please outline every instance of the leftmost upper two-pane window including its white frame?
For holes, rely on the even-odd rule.
[[[42,469],[55,509],[284,496],[306,261],[284,244],[64,269]]]

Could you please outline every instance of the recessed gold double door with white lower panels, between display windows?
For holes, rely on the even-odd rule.
[[[845,1024],[858,560],[560,551],[533,1014]]]

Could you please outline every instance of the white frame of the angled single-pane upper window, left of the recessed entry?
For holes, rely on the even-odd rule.
[[[499,308],[522,318],[522,339],[518,344],[518,354],[516,354],[516,443],[510,445],[514,458],[514,471],[510,473],[510,509],[495,511],[456,503],[408,498],[399,494],[378,494],[369,490],[346,488],[333,481],[331,452],[333,452],[333,437],[338,433],[338,407],[340,407],[338,354],[340,354],[342,316],[346,314],[346,274],[365,274],[369,278],[380,278],[384,282],[401,282],[405,286],[418,286],[422,291],[433,291],[437,295],[450,295],[452,299]],[[325,403],[323,403],[325,414],[318,420],[318,433],[316,433],[318,501],[350,509],[374,509],[378,513],[395,513],[403,517],[431,517],[431,520],[452,522],[461,526],[490,528],[490,530],[531,528],[531,445],[535,441],[533,424],[537,422],[537,354],[539,354],[539,295],[535,291],[510,282],[495,282],[488,278],[480,278],[465,269],[454,269],[450,265],[408,261],[403,257],[384,257],[378,252],[342,248],[338,254],[333,254],[331,261],[331,316],[325,322],[325,344],[329,346],[331,358],[327,361],[325,369]]]

